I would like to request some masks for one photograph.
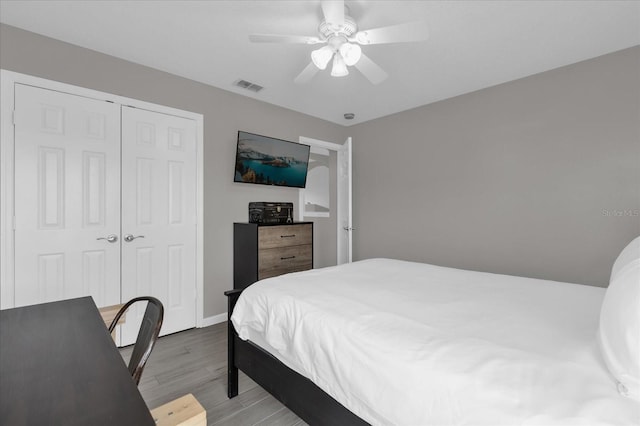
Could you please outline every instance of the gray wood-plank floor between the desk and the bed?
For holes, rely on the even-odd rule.
[[[120,349],[126,361],[131,349]],[[149,408],[192,393],[207,410],[209,425],[306,425],[242,372],[238,396],[227,398],[226,322],[158,339],[139,389]]]

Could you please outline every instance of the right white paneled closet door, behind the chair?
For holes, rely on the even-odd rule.
[[[160,299],[161,334],[195,327],[196,122],[122,107],[122,171],[122,300]],[[122,345],[143,313],[127,314]]]

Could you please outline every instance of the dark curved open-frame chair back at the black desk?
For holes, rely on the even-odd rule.
[[[140,330],[138,331],[138,337],[133,346],[131,358],[129,359],[129,373],[131,373],[131,377],[137,385],[140,383],[140,377],[142,376],[144,366],[149,359],[149,355],[151,355],[151,350],[158,340],[160,328],[162,327],[162,319],[164,318],[164,307],[162,306],[162,302],[155,297],[135,297],[125,303],[120,311],[118,311],[111,322],[111,326],[109,326],[109,333],[113,332],[113,329],[118,324],[118,320],[127,311],[127,309],[129,309],[129,306],[136,302],[147,302],[147,309],[144,311],[142,324],[140,324]]]

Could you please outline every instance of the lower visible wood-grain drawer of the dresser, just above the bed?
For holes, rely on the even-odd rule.
[[[312,252],[311,244],[260,250],[258,279],[311,269],[313,268]]]

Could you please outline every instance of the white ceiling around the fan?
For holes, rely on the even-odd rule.
[[[0,1],[0,21],[351,125],[640,44],[639,1],[347,0],[359,29],[424,20],[421,43],[363,47],[389,78],[356,69],[293,79],[317,46],[252,33],[317,35],[319,1]],[[329,67],[330,68],[330,67]],[[252,93],[244,79],[264,86]],[[346,112],[356,118],[347,121]]]

